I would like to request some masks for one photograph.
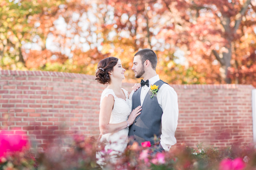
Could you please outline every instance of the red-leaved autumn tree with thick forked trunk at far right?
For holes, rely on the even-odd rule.
[[[232,79],[234,76],[230,74],[234,67],[237,69],[238,60],[244,55],[236,53],[239,47],[235,44],[247,34],[245,30],[248,27],[251,29],[255,27],[256,3],[250,0],[181,2],[182,5],[164,0],[166,6],[175,4],[182,20],[186,21],[181,26],[187,28],[185,31],[187,39],[180,41],[188,46],[188,51],[191,53],[188,57],[194,60],[198,58],[201,60],[203,57],[204,60],[208,60],[207,63],[213,62],[213,65],[217,65],[214,60],[219,61],[222,78],[220,82],[239,83]],[[252,46],[255,46],[254,41]],[[254,50],[251,49],[249,53],[254,55]],[[196,55],[200,56],[196,57]]]

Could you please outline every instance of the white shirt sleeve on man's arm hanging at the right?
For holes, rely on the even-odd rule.
[[[167,85],[163,85],[159,92],[159,105],[162,107],[162,135],[160,143],[164,150],[169,151],[171,146],[176,144],[175,131],[178,125],[178,96],[174,89]],[[161,90],[161,91],[160,91]]]

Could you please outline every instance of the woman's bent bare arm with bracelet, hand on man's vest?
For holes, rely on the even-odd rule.
[[[114,133],[117,131],[121,131],[122,129],[125,129],[127,127],[127,122],[121,122],[117,124],[110,124],[110,116],[111,112],[114,106],[114,97],[112,95],[108,95],[108,97],[104,97],[101,102],[100,107],[100,118],[99,118],[99,124],[100,124],[100,133],[101,134],[107,134],[107,133]],[[131,113],[131,115],[128,118],[128,122],[130,125],[133,124],[134,119],[140,114],[140,106],[134,109]]]

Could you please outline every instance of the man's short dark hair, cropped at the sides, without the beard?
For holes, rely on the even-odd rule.
[[[150,63],[151,63],[151,67],[156,70],[156,64],[157,64],[157,56],[156,56],[156,53],[149,49],[149,48],[145,48],[145,49],[142,49],[140,51],[138,51],[135,55],[140,55],[140,59],[141,59],[141,62],[142,64],[146,61],[146,60],[149,60]]]

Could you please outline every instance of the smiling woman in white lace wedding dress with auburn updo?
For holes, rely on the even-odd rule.
[[[132,110],[132,101],[128,92],[121,88],[125,69],[116,57],[100,60],[96,70],[96,79],[108,84],[100,98],[100,142],[106,142],[104,151],[97,152],[97,163],[105,165],[104,154],[110,155],[111,163],[117,161],[117,155],[123,153],[128,140],[129,126],[140,115],[141,106]]]

